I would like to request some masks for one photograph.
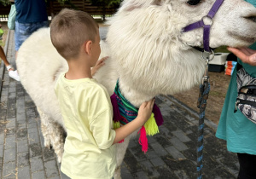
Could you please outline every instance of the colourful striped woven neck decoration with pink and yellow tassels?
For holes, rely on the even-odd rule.
[[[116,83],[113,95],[111,95],[111,102],[113,105],[113,129],[117,129],[122,125],[128,124],[133,119],[137,118],[138,108],[134,107],[130,101],[126,100],[125,97],[119,91],[119,80]],[[154,104],[153,113],[148,121],[143,125],[139,137],[139,143],[142,145],[144,153],[148,151],[148,136],[154,136],[159,133],[158,126],[163,124],[164,120],[160,113],[160,108]],[[123,142],[119,141],[119,143]]]

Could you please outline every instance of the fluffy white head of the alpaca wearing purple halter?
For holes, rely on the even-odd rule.
[[[119,78],[145,94],[173,94],[201,81],[205,63],[191,46],[202,46],[203,30],[183,32],[208,14],[215,0],[125,0],[109,21],[107,41]],[[224,0],[214,16],[210,46],[256,41],[256,9]]]

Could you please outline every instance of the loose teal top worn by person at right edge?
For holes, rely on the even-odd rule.
[[[256,7],[255,0],[247,0]],[[256,43],[251,46],[256,49]],[[238,62],[254,78],[256,78],[256,66]],[[230,79],[230,86],[227,92],[224,107],[218,123],[216,136],[227,141],[227,147],[233,153],[248,153],[256,155],[256,124],[247,119],[239,110],[234,113],[236,96],[236,69]]]

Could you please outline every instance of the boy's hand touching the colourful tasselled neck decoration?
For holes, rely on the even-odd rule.
[[[150,118],[153,107],[154,107],[154,99],[143,102],[143,104],[139,108],[137,117],[140,118],[143,124],[145,124],[147,120]]]

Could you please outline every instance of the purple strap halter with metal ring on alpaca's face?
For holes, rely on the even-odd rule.
[[[212,26],[212,22],[213,22],[213,17],[214,15],[217,13],[219,7],[221,6],[221,4],[224,2],[224,0],[216,0],[216,2],[213,4],[212,9],[210,10],[210,12],[201,18],[200,21],[197,21],[193,24],[190,24],[189,26],[186,26],[183,28],[183,32],[189,32],[192,31],[194,29],[203,27],[204,28],[204,34],[203,34],[203,43],[204,43],[204,50],[211,53],[211,49],[210,49],[210,29]],[[205,24],[205,19],[208,18],[211,20],[211,22],[209,24]]]

